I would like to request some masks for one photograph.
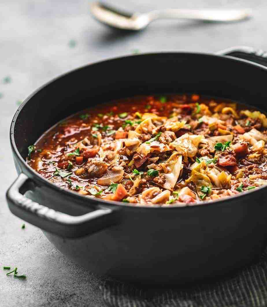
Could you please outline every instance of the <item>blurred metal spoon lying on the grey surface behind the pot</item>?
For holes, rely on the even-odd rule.
[[[166,9],[155,10],[145,14],[127,13],[101,2],[91,5],[92,15],[100,22],[112,28],[123,30],[141,30],[151,21],[163,18],[192,19],[199,21],[233,22],[246,19],[250,16],[249,9],[242,10],[183,10]]]

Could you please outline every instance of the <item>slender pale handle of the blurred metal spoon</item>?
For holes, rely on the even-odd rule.
[[[231,22],[238,21],[250,16],[249,9],[242,10],[186,10],[166,9],[155,10],[148,13],[150,21],[163,18],[193,19],[201,21]]]

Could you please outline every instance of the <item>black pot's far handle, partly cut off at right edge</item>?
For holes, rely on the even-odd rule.
[[[248,46],[237,46],[227,48],[216,52],[215,54],[221,56],[233,56],[239,59],[248,60],[263,66],[267,66],[267,52],[261,49],[254,49]]]

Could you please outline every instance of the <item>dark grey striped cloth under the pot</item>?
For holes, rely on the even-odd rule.
[[[109,307],[263,307],[267,306],[267,253],[231,278],[191,288],[151,289],[105,281],[100,289]]]

